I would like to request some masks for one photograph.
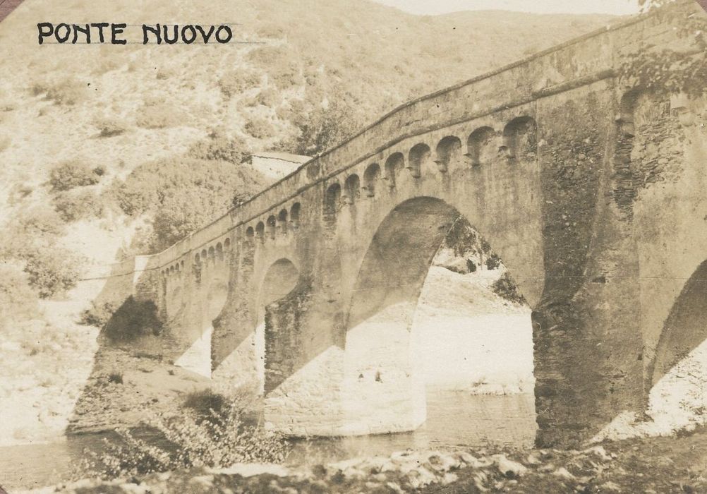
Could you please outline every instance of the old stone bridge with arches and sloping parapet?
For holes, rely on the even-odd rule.
[[[271,428],[411,430],[426,415],[409,328],[463,216],[533,310],[537,442],[574,445],[641,410],[705,336],[704,102],[622,72],[667,46],[694,56],[642,16],[411,101],[125,284],[156,302],[178,365],[257,383]]]

